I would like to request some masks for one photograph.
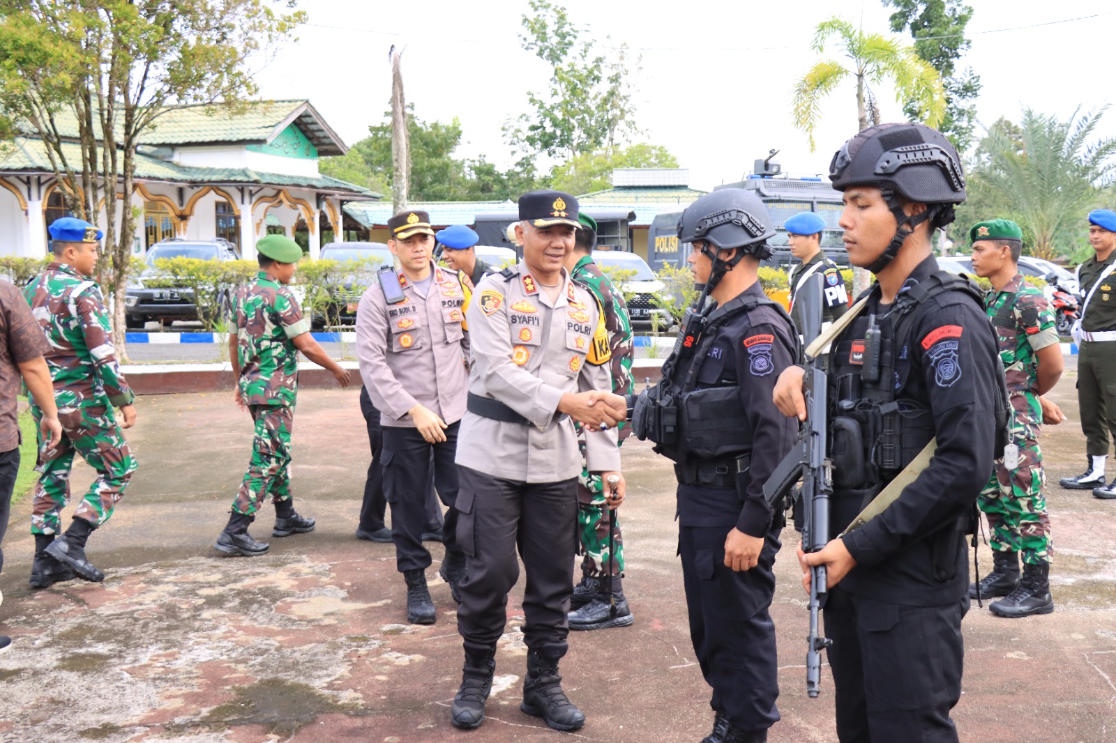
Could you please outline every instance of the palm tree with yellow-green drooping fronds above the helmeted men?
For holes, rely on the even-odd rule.
[[[810,152],[816,149],[814,132],[821,118],[821,100],[837,89],[849,75],[856,77],[857,124],[863,131],[879,123],[879,109],[868,84],[891,80],[898,103],[913,103],[923,112],[923,123],[937,126],[945,115],[945,94],[937,70],[920,58],[912,47],[882,33],[865,33],[840,18],[818,23],[814,50],[825,51],[826,42],[838,37],[852,69],[839,61],[824,59],[806,71],[795,85],[795,126],[806,132]]]

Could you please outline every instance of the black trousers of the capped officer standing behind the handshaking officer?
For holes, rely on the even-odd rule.
[[[426,519],[426,496],[430,493],[431,470],[442,502],[449,506],[442,542],[446,552],[458,551],[458,430],[461,422],[450,424],[445,441],[431,444],[417,428],[384,426],[383,463],[384,496],[392,506],[392,541],[395,542],[395,566],[400,572],[430,567],[430,552],[423,547],[422,531]]]

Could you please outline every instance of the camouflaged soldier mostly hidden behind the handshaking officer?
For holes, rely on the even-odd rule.
[[[627,395],[634,392],[632,379],[632,357],[634,355],[632,320],[628,318],[624,295],[605,276],[593,260],[597,244],[597,222],[588,214],[579,213],[581,226],[574,235],[574,252],[566,261],[569,277],[591,291],[605,310],[605,327],[612,348],[613,392]],[[580,427],[579,427],[580,428]],[[617,446],[632,433],[631,425],[622,422],[617,430]],[[574,587],[570,597],[570,629],[605,629],[627,627],[634,621],[622,583],[624,573],[624,539],[619,522],[613,533],[615,556],[608,553],[608,510],[605,503],[605,488],[600,475],[593,474],[585,461],[585,433],[578,431],[578,447],[581,452],[581,474],[577,479],[577,525],[581,544],[581,582]],[[607,568],[605,566],[608,566]],[[604,576],[612,571],[612,590],[616,597],[616,617],[612,617],[609,596]]]

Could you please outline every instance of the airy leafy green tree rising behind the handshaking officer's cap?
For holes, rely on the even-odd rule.
[[[627,45],[605,55],[581,38],[585,29],[574,26],[562,6],[528,4],[519,40],[551,69],[550,89],[528,94],[531,113],[506,126],[504,137],[526,154],[567,162],[600,148],[610,152],[635,133]]]

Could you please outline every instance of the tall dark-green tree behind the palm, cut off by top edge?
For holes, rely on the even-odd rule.
[[[884,7],[895,8],[891,16],[893,31],[907,29],[914,38],[914,50],[937,70],[945,90],[945,116],[939,129],[950,138],[958,152],[972,143],[977,123],[977,96],[980,76],[971,67],[956,70],[956,62],[972,42],[965,38],[965,26],[973,9],[961,0],[883,0]],[[904,109],[914,120],[923,118],[917,104],[908,102]]]

